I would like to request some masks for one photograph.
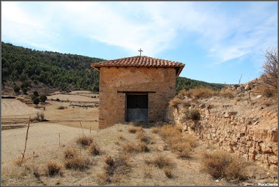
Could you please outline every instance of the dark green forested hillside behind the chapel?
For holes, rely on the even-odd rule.
[[[77,54],[42,52],[3,42],[1,42],[1,57],[2,84],[10,80],[35,85],[41,82],[47,87],[61,90],[69,88],[99,90],[99,72],[90,65],[104,59]],[[185,77],[176,79],[176,92],[201,86],[221,89],[223,84],[210,84]]]

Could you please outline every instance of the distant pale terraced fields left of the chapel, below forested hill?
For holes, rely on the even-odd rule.
[[[78,96],[77,94],[81,94]],[[92,98],[96,97],[96,98]],[[56,100],[56,99],[59,100]],[[36,114],[44,114],[49,123],[66,126],[98,129],[98,95],[88,91],[75,91],[70,94],[55,94],[47,96],[45,104],[39,104],[38,108],[30,100],[30,96],[17,99],[2,98],[1,102],[1,126],[13,126],[14,124],[27,124],[29,117]],[[62,107],[62,109],[59,107]]]

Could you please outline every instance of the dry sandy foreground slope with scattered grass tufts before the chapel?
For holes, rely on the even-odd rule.
[[[88,130],[61,126],[59,124],[31,124],[29,128],[29,139],[27,141],[27,160],[22,166],[15,164],[15,160],[21,156],[24,150],[24,139],[27,128],[3,130],[1,135],[1,184],[2,185],[61,185],[61,186],[95,186],[95,185],[123,185],[123,186],[234,186],[243,185],[248,182],[257,184],[259,180],[266,179],[267,173],[252,163],[248,163],[248,179],[246,181],[229,180],[225,178],[213,178],[204,172],[202,167],[202,154],[205,150],[214,151],[216,148],[206,146],[197,141],[195,147],[190,151],[190,156],[181,158],[165,139],[156,133],[156,129],[142,128],[142,135],[146,139],[146,149],[137,146],[140,133],[133,132],[135,126],[131,124],[117,124],[103,130]],[[59,147],[60,133],[60,147]],[[93,138],[98,155],[89,152],[89,146],[82,146],[76,140],[84,136]],[[181,134],[186,135],[187,134]],[[191,140],[195,142],[195,140]],[[127,146],[132,144],[130,148]],[[84,167],[77,169],[67,168],[64,153],[67,149],[77,149],[77,156],[81,156],[86,162],[79,161]],[[126,153],[126,154],[125,154]],[[154,163],[158,156],[169,158],[163,160],[163,164],[169,167],[159,167]],[[106,178],[107,164],[105,159],[111,156],[114,159],[113,172]],[[123,162],[117,161],[119,157]],[[126,156],[126,157],[125,157]],[[53,176],[47,172],[47,163],[53,160],[61,165],[59,174]],[[73,161],[73,160],[72,160]],[[123,164],[127,163],[127,165]],[[167,165],[168,166],[168,165]],[[270,176],[270,175],[269,175]]]

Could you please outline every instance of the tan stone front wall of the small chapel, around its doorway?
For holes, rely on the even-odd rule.
[[[148,93],[148,119],[161,120],[175,84],[174,68],[100,68],[99,128],[125,121],[126,93],[117,91],[156,91]]]

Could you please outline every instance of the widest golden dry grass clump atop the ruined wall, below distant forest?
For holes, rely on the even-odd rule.
[[[218,95],[218,91],[214,91],[207,87],[199,87],[195,89],[190,89],[186,91],[184,94],[188,98],[209,98],[211,96]]]

